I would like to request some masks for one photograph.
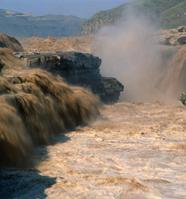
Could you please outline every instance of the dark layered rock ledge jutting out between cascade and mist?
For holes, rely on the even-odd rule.
[[[116,102],[124,89],[123,85],[115,78],[101,76],[101,59],[91,54],[59,52],[24,54],[21,57],[26,58],[27,67],[45,69],[62,76],[72,85],[89,88],[106,103]]]

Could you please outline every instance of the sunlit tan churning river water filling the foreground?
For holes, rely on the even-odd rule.
[[[23,193],[40,198],[44,192],[49,199],[185,199],[185,118],[181,105],[106,106],[100,120],[71,132],[65,142],[62,135],[56,137],[47,158],[46,148],[37,150],[35,161],[43,160],[39,175],[56,181],[36,193],[29,183],[36,183],[37,176],[32,181],[25,177],[25,189],[16,198],[24,198]]]

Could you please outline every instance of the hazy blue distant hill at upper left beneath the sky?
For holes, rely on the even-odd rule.
[[[74,16],[32,16],[0,9],[0,32],[16,37],[78,35],[84,19]]]

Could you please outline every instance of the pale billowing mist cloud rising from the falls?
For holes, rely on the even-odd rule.
[[[101,72],[125,85],[126,100],[149,101],[163,95],[158,88],[163,64],[158,42],[158,27],[131,13],[97,34],[94,53],[102,58]]]

